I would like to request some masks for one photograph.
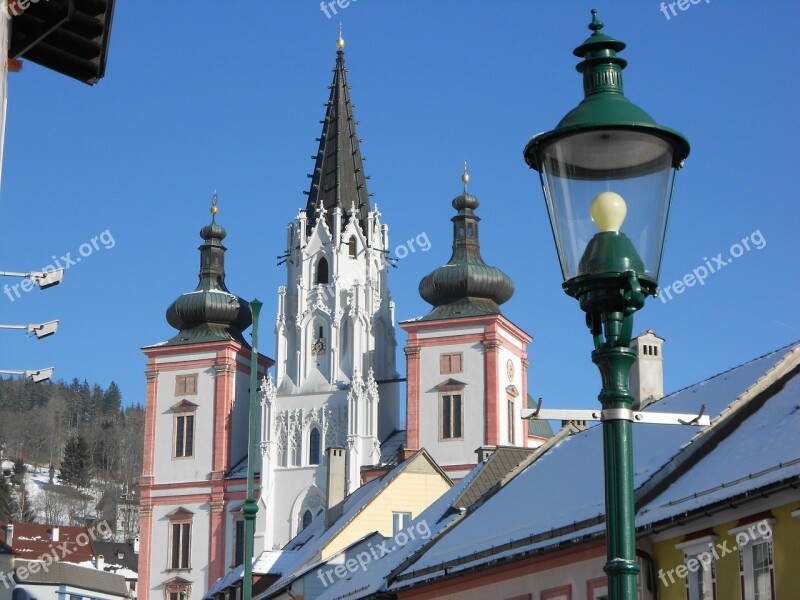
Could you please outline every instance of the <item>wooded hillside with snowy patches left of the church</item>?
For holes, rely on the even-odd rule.
[[[113,382],[0,379],[0,520],[83,524],[102,497],[133,493],[143,443],[144,408]]]

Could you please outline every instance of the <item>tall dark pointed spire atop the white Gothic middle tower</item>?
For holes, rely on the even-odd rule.
[[[333,83],[330,86],[325,120],[322,121],[319,151],[315,157],[306,205],[308,231],[311,231],[317,220],[319,206],[325,208],[325,219],[333,231],[333,209],[338,206],[344,220],[349,219],[351,210],[354,210],[356,219],[366,233],[369,194],[356,133],[357,121],[353,118],[353,104],[350,102],[350,88],[347,85],[341,31],[336,48]]]

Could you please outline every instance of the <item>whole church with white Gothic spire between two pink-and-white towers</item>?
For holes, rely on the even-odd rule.
[[[341,35],[336,46],[307,202],[277,248],[286,285],[275,360],[251,364],[250,307],[226,287],[216,197],[200,231],[198,286],[167,310],[177,333],[143,348],[139,598],[202,598],[242,564],[254,368],[262,382],[256,555],[282,548],[324,511],[328,448],[343,449],[351,494],[403,450],[425,448],[458,480],[485,451],[548,437],[545,422],[519,419],[532,338],[501,313],[514,286],[481,258],[466,165],[452,200],[452,256],[420,283],[431,311],[399,323],[408,341],[406,376],[398,372],[389,227],[370,202]]]

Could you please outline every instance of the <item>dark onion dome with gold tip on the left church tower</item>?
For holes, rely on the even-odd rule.
[[[216,222],[217,194],[211,200],[211,223],[200,230],[200,281],[193,292],[181,294],[167,309],[167,322],[178,330],[167,345],[236,340],[247,345],[242,332],[252,323],[250,305],[225,287],[227,232]]]

